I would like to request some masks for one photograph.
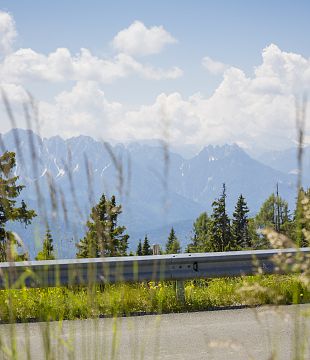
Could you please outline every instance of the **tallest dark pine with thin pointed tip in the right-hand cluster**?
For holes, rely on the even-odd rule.
[[[212,204],[213,213],[209,226],[210,251],[228,251],[233,249],[230,220],[226,213],[226,186],[218,200]]]

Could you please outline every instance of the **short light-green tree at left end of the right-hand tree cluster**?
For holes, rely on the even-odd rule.
[[[210,251],[209,223],[210,219],[206,212],[198,216],[193,224],[193,236],[191,237],[191,243],[187,246],[186,252]]]

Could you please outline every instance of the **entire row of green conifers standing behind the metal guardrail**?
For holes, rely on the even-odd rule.
[[[0,156],[0,261],[19,261],[29,258],[27,253],[20,253],[21,246],[18,237],[6,229],[10,222],[18,221],[25,226],[31,224],[37,216],[34,210],[28,209],[23,200],[17,204],[24,185],[17,185],[18,176],[13,174],[16,166],[15,153],[5,152]],[[226,186],[212,203],[209,216],[203,212],[193,224],[190,243],[186,252],[217,252],[243,249],[268,248],[268,241],[263,233],[264,228],[271,228],[293,239],[297,246],[309,245],[310,233],[310,189],[300,189],[296,207],[291,214],[288,203],[276,193],[271,194],[262,204],[254,217],[249,217],[249,208],[242,194],[238,197],[232,218],[226,207]],[[110,257],[128,255],[129,235],[126,227],[118,224],[118,216],[122,213],[121,205],[116,203],[114,195],[107,198],[102,194],[98,204],[92,209],[86,223],[87,231],[79,241],[76,256],[78,258]],[[180,242],[172,227],[161,253],[176,254],[181,252]],[[151,255],[152,249],[145,235],[142,243],[139,240],[136,255]],[[129,255],[135,255],[131,252]],[[46,234],[42,249],[38,252],[37,260],[55,258],[53,238],[46,225]]]

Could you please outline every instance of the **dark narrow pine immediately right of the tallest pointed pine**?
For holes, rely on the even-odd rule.
[[[251,247],[249,237],[247,213],[249,209],[242,195],[239,196],[235,211],[233,213],[231,233],[235,249],[244,249]]]

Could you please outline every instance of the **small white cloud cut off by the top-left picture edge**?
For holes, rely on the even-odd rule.
[[[0,11],[0,56],[11,52],[16,35],[14,19],[9,13]]]

